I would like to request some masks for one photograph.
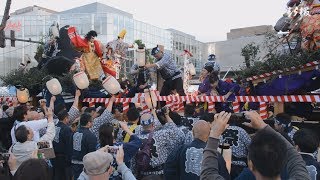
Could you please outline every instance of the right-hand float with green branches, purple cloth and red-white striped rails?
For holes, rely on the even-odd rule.
[[[287,6],[274,27],[282,37],[276,38],[265,59],[241,72],[253,96],[238,100],[260,102],[263,113],[272,106],[275,114],[286,112],[294,120],[319,123],[320,1],[291,0]],[[287,51],[277,51],[281,45]]]

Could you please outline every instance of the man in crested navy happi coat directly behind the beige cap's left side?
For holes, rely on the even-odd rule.
[[[97,137],[90,131],[93,125],[93,118],[90,114],[84,113],[80,116],[80,128],[73,134],[72,150],[72,173],[77,179],[83,169],[83,157],[96,150]]]

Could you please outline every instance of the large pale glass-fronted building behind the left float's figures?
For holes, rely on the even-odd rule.
[[[132,14],[101,3],[92,3],[59,13],[38,6],[23,8],[11,14],[5,33],[6,36],[10,36],[10,30],[14,30],[16,38],[46,41],[53,22],[58,22],[60,27],[75,26],[81,36],[95,30],[103,44],[117,38],[118,33],[126,29],[125,42],[133,44],[135,40],[140,39],[147,49],[160,44],[166,51],[172,52],[170,31],[135,20]],[[6,48],[0,49],[0,75],[18,68],[26,57],[33,59],[38,47],[38,44],[27,42],[16,42],[15,47],[11,47],[9,42],[7,40]],[[133,59],[133,54],[129,52],[129,59]],[[126,61],[125,67],[130,68],[132,64],[132,60]]]

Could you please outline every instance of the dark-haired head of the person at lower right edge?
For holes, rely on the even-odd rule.
[[[299,151],[304,153],[314,153],[319,147],[319,138],[310,129],[300,129],[293,135],[293,141],[298,146]]]

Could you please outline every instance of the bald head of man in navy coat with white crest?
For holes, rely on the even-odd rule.
[[[210,135],[210,130],[211,127],[208,122],[199,120],[193,125],[192,128],[193,138],[207,142]]]

